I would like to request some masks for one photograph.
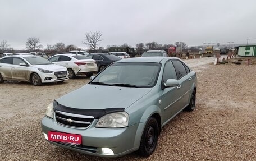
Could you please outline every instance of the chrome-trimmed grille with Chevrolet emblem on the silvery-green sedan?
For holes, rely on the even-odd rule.
[[[86,128],[93,122],[93,116],[55,111],[55,119],[58,123],[76,128]]]

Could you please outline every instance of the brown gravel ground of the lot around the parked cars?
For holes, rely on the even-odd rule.
[[[131,153],[98,158],[49,144],[40,121],[55,98],[80,88],[87,77],[35,87],[0,85],[0,160],[255,160],[256,65],[217,65],[214,58],[187,60],[198,74],[196,109],[163,127],[148,158]],[[208,64],[205,64],[205,63]]]

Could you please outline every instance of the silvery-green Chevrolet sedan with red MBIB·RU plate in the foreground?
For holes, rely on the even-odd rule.
[[[122,59],[49,104],[43,135],[51,144],[89,155],[139,151],[147,157],[161,128],[183,109],[195,109],[196,84],[196,73],[179,58]]]

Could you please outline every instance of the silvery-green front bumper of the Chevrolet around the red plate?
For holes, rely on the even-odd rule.
[[[125,128],[96,128],[95,119],[86,129],[73,128],[59,125],[54,119],[44,117],[42,119],[42,132],[48,135],[48,131],[66,132],[82,135],[81,146],[65,144],[63,142],[49,141],[51,144],[71,149],[80,153],[100,157],[120,157],[139,149],[144,123]],[[105,153],[104,149],[111,149],[113,154]]]

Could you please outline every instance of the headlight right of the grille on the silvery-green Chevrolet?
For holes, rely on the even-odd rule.
[[[129,115],[126,112],[116,112],[102,116],[95,127],[118,128],[126,127],[129,123]]]

